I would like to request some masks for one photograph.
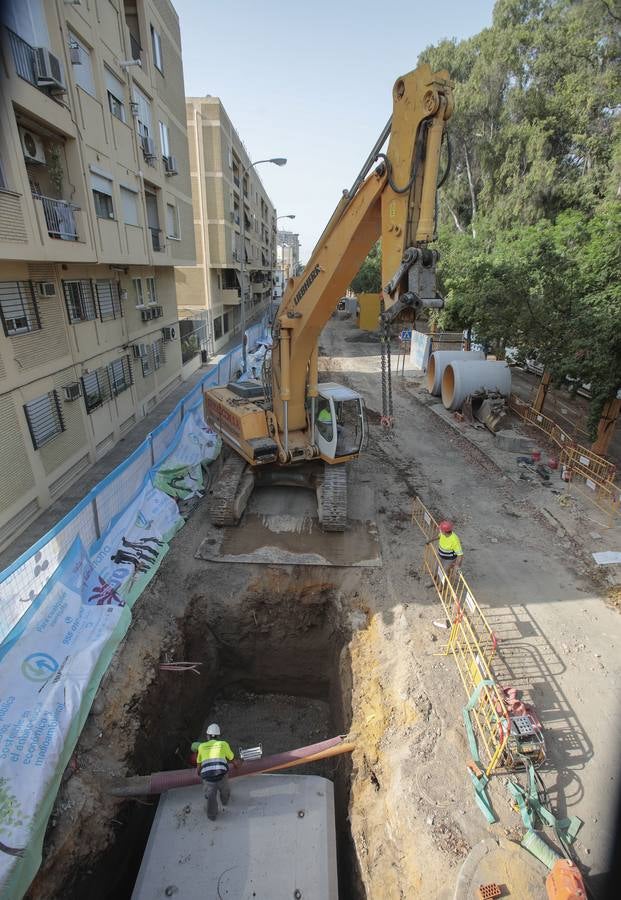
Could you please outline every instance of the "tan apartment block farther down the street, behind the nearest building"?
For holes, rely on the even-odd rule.
[[[186,112],[196,265],[176,268],[177,299],[180,316],[198,320],[207,313],[208,349],[217,352],[239,331],[242,253],[246,320],[269,305],[276,210],[219,98],[189,97]]]

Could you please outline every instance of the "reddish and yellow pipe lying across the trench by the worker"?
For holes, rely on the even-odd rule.
[[[261,772],[277,772],[280,769],[290,769],[303,763],[315,762],[320,759],[328,759],[341,753],[351,753],[354,744],[344,741],[342,737],[329,738],[318,744],[309,744],[307,747],[299,747],[297,750],[287,750],[284,753],[275,753],[272,756],[264,756],[263,759],[253,759],[243,762],[239,768],[231,768],[229,778],[240,778],[242,775],[258,775]],[[196,774],[196,769],[176,769],[172,772],[154,772],[152,775],[144,775],[138,778],[127,779],[129,784],[115,785],[108,793],[115,797],[136,797],[141,794],[161,794],[172,788],[190,787],[200,784],[201,780]]]

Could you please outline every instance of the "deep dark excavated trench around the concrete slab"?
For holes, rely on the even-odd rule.
[[[131,770],[147,774],[190,764],[191,743],[216,721],[232,747],[262,744],[265,755],[348,732],[351,724],[350,633],[333,585],[275,575],[277,588],[248,589],[214,600],[196,593],[167,653],[199,662],[201,675],[159,672],[133,714],[140,730]],[[341,900],[366,897],[349,829],[351,759],[299,767],[335,788]],[[235,789],[233,782],[232,789]],[[115,813],[115,840],[66,897],[131,897],[156,799],[130,800]]]

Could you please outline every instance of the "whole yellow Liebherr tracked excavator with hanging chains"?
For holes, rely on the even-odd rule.
[[[214,524],[239,521],[255,485],[285,484],[316,491],[324,531],[346,529],[346,463],[364,444],[366,414],[355,391],[319,382],[319,336],[381,238],[383,421],[389,425],[391,325],[413,323],[417,310],[443,304],[436,290],[437,252],[427,245],[435,238],[436,195],[446,177],[439,177],[440,156],[452,110],[448,72],[422,65],[397,79],[391,118],[302,275],[287,283],[262,380],[206,391],[205,418],[235,451],[211,492]]]

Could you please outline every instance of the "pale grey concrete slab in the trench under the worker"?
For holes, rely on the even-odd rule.
[[[162,794],[132,900],[338,900],[331,781],[235,778],[216,822],[205,805],[202,785]]]

